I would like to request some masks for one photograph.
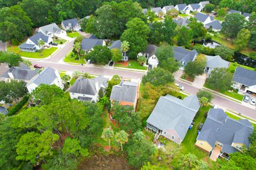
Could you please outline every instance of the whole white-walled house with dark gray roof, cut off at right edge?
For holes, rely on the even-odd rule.
[[[236,67],[233,82],[232,87],[238,89],[239,94],[245,94],[247,91],[256,94],[256,71]]]

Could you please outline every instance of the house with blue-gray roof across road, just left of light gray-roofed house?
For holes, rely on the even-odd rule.
[[[181,62],[183,66],[187,65],[188,62],[194,61],[198,55],[196,50],[188,50],[183,47],[173,47],[174,57],[178,62]]]

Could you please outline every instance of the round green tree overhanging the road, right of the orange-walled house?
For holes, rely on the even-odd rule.
[[[142,77],[143,84],[149,82],[154,86],[161,86],[167,83],[174,82],[174,78],[172,73],[167,70],[162,69],[161,67],[157,67],[155,69],[151,69],[148,71],[147,75]]]

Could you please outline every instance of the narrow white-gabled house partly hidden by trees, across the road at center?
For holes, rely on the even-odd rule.
[[[145,49],[145,52],[139,53],[137,57],[139,56],[145,56],[146,60],[148,60],[149,67],[154,69],[157,67],[159,61],[155,55],[156,49],[158,47],[152,44],[148,44],[148,46]]]

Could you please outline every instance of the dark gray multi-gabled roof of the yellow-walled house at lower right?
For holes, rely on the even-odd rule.
[[[216,141],[221,142],[223,144],[222,152],[231,154],[238,151],[231,146],[233,142],[243,143],[249,148],[249,136],[252,132],[253,127],[248,120],[236,121],[228,117],[222,109],[212,108],[197,140],[207,141],[212,148],[214,148]]]

